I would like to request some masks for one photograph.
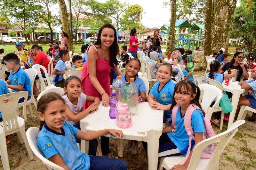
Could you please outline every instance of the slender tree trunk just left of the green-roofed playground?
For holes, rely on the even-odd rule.
[[[175,45],[175,20],[176,20],[176,0],[171,0],[171,19],[170,19],[170,30],[167,40],[166,54],[172,53]]]

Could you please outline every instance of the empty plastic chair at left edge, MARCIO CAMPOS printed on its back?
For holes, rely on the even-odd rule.
[[[0,96],[0,108],[3,116],[3,121],[0,122],[0,155],[4,169],[10,169],[7,153],[5,136],[17,133],[20,144],[24,144],[27,148],[29,158],[34,159],[32,150],[28,145],[28,139],[25,132],[25,121],[17,116],[17,104],[20,98],[25,97],[23,108],[26,110],[28,92],[19,91],[7,93]],[[7,101],[7,102],[6,102]],[[14,154],[15,155],[15,154]],[[25,156],[25,155],[24,155]]]

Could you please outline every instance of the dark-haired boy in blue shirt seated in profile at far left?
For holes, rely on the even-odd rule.
[[[7,87],[13,92],[28,91],[28,100],[31,98],[31,84],[28,74],[19,66],[19,58],[14,53],[9,53],[3,57],[6,67],[11,71],[9,80],[5,81]],[[20,98],[19,103],[25,98]]]

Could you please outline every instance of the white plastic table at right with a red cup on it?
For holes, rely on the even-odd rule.
[[[224,80],[224,82],[225,82],[225,80]],[[244,96],[245,93],[248,92],[248,90],[241,89],[241,86],[238,85],[238,83],[239,83],[238,81],[236,81],[236,82],[231,81],[231,84],[229,81],[228,86],[224,85],[224,82],[222,83],[223,91],[228,91],[228,92],[232,93],[231,104],[233,106],[233,110],[229,114],[229,119],[228,119],[228,128],[229,128],[229,126],[231,126],[231,124],[233,124],[233,121],[234,121],[234,118],[236,115],[236,108],[237,108],[237,104],[239,101],[239,97],[241,94]],[[220,130],[222,130],[222,129],[220,129]]]

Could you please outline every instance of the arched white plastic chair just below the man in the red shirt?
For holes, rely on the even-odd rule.
[[[40,65],[40,64],[35,64],[34,66],[32,66],[33,69],[35,69],[37,71],[37,75],[39,77],[39,80],[41,82],[41,91],[44,91],[45,89],[49,89],[49,88],[52,88],[52,87],[55,87],[53,84],[52,84],[52,81],[50,80],[50,78],[47,76],[45,76],[46,78],[46,82],[44,81],[43,79],[43,76],[41,74],[41,71],[40,71],[40,68],[43,69],[44,73],[47,73],[46,69],[44,66]],[[48,85],[48,86],[47,86]]]

